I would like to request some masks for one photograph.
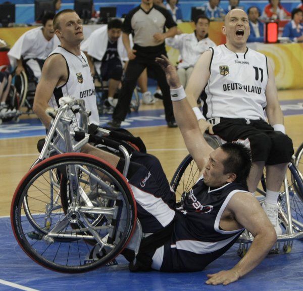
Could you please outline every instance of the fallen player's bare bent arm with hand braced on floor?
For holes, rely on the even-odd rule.
[[[238,280],[262,262],[277,240],[273,225],[258,200],[250,193],[235,193],[226,210],[231,211],[235,220],[254,236],[254,241],[232,269],[209,274],[207,284],[227,285]]]

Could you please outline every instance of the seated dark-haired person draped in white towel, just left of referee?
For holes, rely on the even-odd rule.
[[[91,74],[97,73],[109,81],[108,103],[115,107],[114,95],[120,84],[123,64],[127,52],[122,42],[122,21],[112,19],[108,25],[94,30],[81,44],[81,51],[87,56]],[[94,66],[94,62],[96,62]]]

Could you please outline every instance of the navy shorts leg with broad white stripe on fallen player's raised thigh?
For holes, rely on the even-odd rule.
[[[117,166],[119,171],[124,164],[121,160]],[[137,217],[143,232],[157,232],[174,220],[176,196],[155,156],[133,152],[127,179],[136,200]]]

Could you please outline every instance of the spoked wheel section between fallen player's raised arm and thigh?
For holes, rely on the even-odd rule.
[[[170,182],[176,196],[181,197],[188,192],[200,176],[200,171],[190,155],[187,155],[180,163]]]

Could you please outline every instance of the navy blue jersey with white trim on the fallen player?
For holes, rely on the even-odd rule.
[[[211,189],[203,179],[183,197],[176,211],[170,243],[164,246],[162,271],[199,271],[223,255],[243,228],[225,231],[219,227],[221,216],[236,192],[246,191],[237,183]]]

